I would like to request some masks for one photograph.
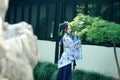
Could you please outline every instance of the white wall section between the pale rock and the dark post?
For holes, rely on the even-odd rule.
[[[55,57],[55,42],[38,41],[38,57],[40,61],[49,61],[54,63]]]

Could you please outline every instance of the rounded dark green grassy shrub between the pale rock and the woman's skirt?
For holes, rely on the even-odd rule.
[[[57,70],[57,66],[49,62],[39,62],[34,68],[35,80],[50,80],[52,74]]]

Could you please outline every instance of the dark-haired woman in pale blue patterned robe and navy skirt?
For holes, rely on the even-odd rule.
[[[63,30],[63,53],[58,60],[58,74],[56,80],[72,80],[73,61],[81,59],[80,40],[72,35],[72,29],[69,23],[60,26]]]

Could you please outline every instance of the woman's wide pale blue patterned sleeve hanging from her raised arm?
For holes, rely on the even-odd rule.
[[[75,42],[68,37],[63,38],[64,47],[69,48],[69,59],[78,60],[82,57],[81,41],[78,39]]]

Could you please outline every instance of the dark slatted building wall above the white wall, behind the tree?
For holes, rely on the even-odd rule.
[[[72,21],[77,13],[120,23],[119,6],[118,0],[10,0],[6,21],[26,21],[38,39],[56,40],[59,23]]]

